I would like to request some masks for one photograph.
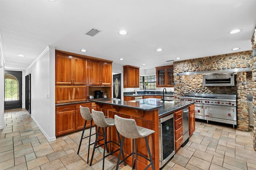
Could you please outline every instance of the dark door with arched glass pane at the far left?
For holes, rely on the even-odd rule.
[[[22,108],[22,72],[5,71],[4,109]]]

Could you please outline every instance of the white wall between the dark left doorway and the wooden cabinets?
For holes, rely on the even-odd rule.
[[[48,141],[55,137],[55,49],[47,47],[26,69],[31,73],[31,117]],[[25,75],[25,76],[26,76]]]

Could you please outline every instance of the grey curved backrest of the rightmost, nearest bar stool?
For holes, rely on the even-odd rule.
[[[115,115],[115,125],[117,131],[126,138],[136,139],[141,137],[136,121],[134,119],[126,119]]]

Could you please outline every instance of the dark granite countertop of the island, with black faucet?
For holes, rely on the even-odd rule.
[[[132,101],[117,101],[109,98],[100,98],[100,99],[90,99],[91,102],[102,103],[102,104],[110,104],[114,106],[128,107],[131,109],[138,109],[144,111],[150,111],[154,109],[158,109],[159,117],[163,115],[181,109],[182,107],[186,107],[194,102],[190,101],[162,101],[157,98],[147,98],[140,100],[132,100]]]

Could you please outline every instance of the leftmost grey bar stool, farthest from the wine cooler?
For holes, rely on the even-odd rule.
[[[79,151],[80,151],[80,147],[81,147],[81,144],[82,144],[82,140],[83,139],[86,139],[89,137],[89,144],[88,144],[88,154],[87,154],[87,164],[89,162],[89,152],[90,152],[90,145],[93,145],[94,143],[90,143],[91,142],[91,136],[92,135],[96,135],[96,133],[92,134],[92,114],[90,112],[90,109],[88,107],[82,107],[80,106],[80,113],[81,113],[81,116],[82,118],[85,120],[84,122],[84,129],[83,129],[83,132],[82,132],[82,136],[81,136],[81,140],[80,140],[80,144],[79,144],[79,147],[78,147],[78,151],[77,151],[77,154],[79,154]],[[86,123],[87,121],[91,121],[90,123],[90,134],[86,137],[84,137],[84,130],[85,130],[85,127],[86,127]],[[97,128],[95,126],[95,132],[97,131]],[[104,133],[104,131],[103,131]],[[104,134],[103,134],[104,135]],[[99,141],[102,141],[103,139],[99,140]],[[102,146],[102,145],[101,145]],[[107,148],[107,151],[108,151],[108,148]]]

